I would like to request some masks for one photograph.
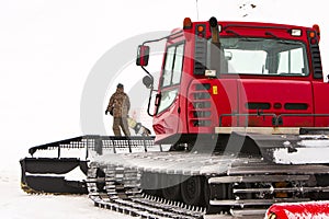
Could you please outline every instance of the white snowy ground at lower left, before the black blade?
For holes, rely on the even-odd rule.
[[[7,168],[7,170],[4,170]],[[0,218],[2,219],[129,219],[133,217],[97,208],[87,195],[29,195],[20,187],[16,162],[0,168]]]

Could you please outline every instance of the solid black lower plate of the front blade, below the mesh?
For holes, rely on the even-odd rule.
[[[26,193],[88,193],[84,182],[68,181],[64,176],[55,175],[68,173],[78,166],[87,174],[87,161],[76,158],[25,158],[20,163],[22,169],[21,186]]]

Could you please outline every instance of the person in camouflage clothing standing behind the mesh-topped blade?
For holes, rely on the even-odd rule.
[[[110,113],[113,116],[113,132],[115,136],[122,136],[121,129],[125,136],[131,136],[127,117],[131,110],[129,96],[124,92],[124,85],[118,83],[115,93],[112,94],[105,115]]]

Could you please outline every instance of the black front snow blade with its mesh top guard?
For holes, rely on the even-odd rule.
[[[32,147],[32,158],[20,160],[22,189],[26,193],[87,194],[90,157],[116,152],[147,152],[155,148],[151,136],[80,136]]]

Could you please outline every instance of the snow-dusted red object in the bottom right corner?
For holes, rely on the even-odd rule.
[[[272,205],[265,219],[329,218],[329,201],[282,203]]]

